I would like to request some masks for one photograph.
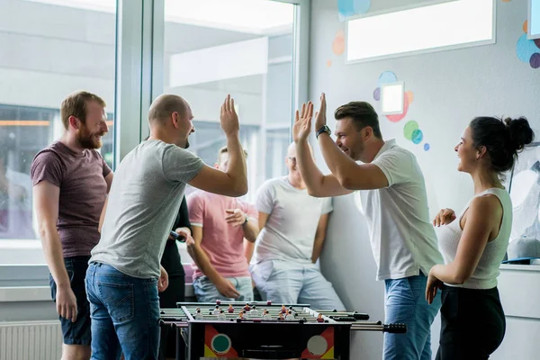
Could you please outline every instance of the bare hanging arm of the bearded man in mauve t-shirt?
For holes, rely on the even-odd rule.
[[[71,282],[64,265],[62,244],[57,230],[59,197],[59,187],[47,181],[41,181],[33,187],[33,199],[43,253],[58,289],[56,297],[58,315],[75,322],[77,315],[76,297],[71,290]]]

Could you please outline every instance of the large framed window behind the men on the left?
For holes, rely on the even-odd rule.
[[[213,164],[219,109],[236,100],[248,200],[286,174],[293,103],[307,100],[308,0],[0,0],[0,264],[42,264],[30,166],[63,133],[59,106],[107,103],[101,153],[114,168],[148,135],[158,94],[194,112],[192,151]],[[302,41],[301,41],[302,37]]]

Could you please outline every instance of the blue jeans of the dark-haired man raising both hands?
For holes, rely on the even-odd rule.
[[[431,324],[441,307],[441,294],[428,304],[425,275],[385,280],[385,322],[407,325],[406,334],[384,334],[384,360],[431,360]]]

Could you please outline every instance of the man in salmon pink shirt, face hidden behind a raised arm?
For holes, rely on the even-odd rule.
[[[229,152],[220,148],[216,168],[227,171]],[[255,242],[259,229],[254,206],[237,198],[199,190],[187,198],[193,241],[193,289],[199,302],[253,301],[244,238]]]

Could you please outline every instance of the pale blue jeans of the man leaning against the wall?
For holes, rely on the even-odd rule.
[[[316,264],[265,260],[251,266],[251,271],[263,300],[310,304],[314,310],[345,310],[338,293]]]

